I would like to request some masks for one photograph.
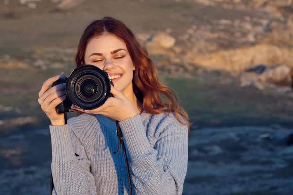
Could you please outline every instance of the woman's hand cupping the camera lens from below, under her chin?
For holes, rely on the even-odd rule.
[[[75,105],[72,105],[71,108],[82,111],[84,113],[101,114],[118,121],[122,121],[137,115],[137,112],[134,109],[131,102],[124,96],[123,93],[118,91],[112,85],[111,85],[111,94],[114,97],[109,97],[103,105],[101,105],[100,107],[96,109],[83,110],[76,107]]]

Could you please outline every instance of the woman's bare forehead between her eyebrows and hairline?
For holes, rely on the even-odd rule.
[[[126,44],[112,34],[102,35],[95,39],[90,39],[85,50],[85,55],[89,53],[109,53],[116,49],[125,49],[127,51]]]

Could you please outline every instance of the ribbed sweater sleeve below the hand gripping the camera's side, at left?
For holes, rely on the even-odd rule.
[[[79,138],[68,124],[50,125],[50,133],[53,194],[96,195],[95,180],[90,172],[90,160]]]

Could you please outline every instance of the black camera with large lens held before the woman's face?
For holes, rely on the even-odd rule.
[[[110,91],[113,82],[109,73],[94,65],[86,64],[75,68],[68,78],[58,79],[51,87],[61,83],[66,83],[66,99],[56,106],[58,114],[76,111],[71,108],[72,104],[80,109],[92,110],[112,97]]]

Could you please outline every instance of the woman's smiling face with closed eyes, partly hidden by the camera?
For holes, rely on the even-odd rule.
[[[109,73],[116,89],[133,93],[133,66],[126,44],[111,34],[90,39],[85,49],[85,64],[92,64]]]

